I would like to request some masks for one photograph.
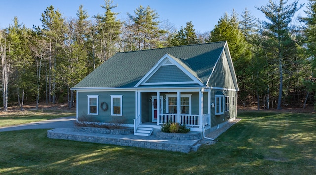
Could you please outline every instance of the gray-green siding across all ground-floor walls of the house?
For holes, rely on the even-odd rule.
[[[211,103],[215,103],[215,94],[220,90],[211,90]],[[224,112],[222,115],[215,115],[215,108],[211,108],[211,127],[214,127],[220,123],[227,121],[230,118],[236,117],[236,92],[235,91],[221,91],[225,96],[230,96],[230,110]],[[160,93],[163,99],[166,98],[167,94],[171,93]],[[182,92],[181,94],[191,94],[191,114],[199,114],[199,93],[198,92]],[[88,115],[88,95],[98,95],[98,115]],[[123,95],[123,116],[111,116],[111,96],[110,95]],[[142,122],[152,121],[152,101],[149,99],[152,96],[156,96],[157,93],[142,93]],[[234,100],[233,100],[234,97]],[[204,114],[208,113],[208,94],[203,93],[204,98]],[[232,104],[234,101],[234,105]],[[103,111],[100,107],[102,102],[108,104],[108,110]],[[166,101],[163,101],[163,113],[166,113]],[[79,120],[91,121],[91,122],[114,122],[116,119],[121,121],[126,121],[127,124],[133,124],[133,119],[135,118],[135,92],[78,92],[78,118]]]

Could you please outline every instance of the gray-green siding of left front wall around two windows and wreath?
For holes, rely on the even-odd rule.
[[[88,95],[98,95],[98,115],[88,115]],[[111,96],[110,95],[123,95],[122,97],[122,116],[111,116]],[[121,92],[78,92],[77,94],[77,109],[79,121],[89,122],[125,122],[133,124],[135,119],[135,91],[121,91]],[[100,107],[101,103],[108,104],[108,109],[103,111]]]

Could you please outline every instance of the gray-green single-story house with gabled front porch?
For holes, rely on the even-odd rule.
[[[116,53],[71,90],[77,121],[122,122],[135,135],[168,121],[210,131],[237,115],[226,41]]]

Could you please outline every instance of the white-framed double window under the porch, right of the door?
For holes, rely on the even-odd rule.
[[[169,114],[177,114],[178,100],[177,95],[166,95],[167,109],[166,112]],[[180,95],[180,110],[181,114],[191,114],[191,94]]]

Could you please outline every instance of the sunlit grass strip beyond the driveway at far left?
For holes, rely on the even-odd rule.
[[[0,113],[0,127],[26,124],[47,119],[54,119],[66,116],[76,116],[75,111],[53,111],[53,110],[36,110],[36,111],[10,111]]]

